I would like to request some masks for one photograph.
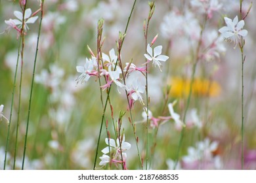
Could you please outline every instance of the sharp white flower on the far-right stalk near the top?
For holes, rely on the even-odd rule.
[[[235,43],[234,48],[236,48],[238,39],[240,39],[240,37],[245,37],[248,33],[247,30],[243,29],[244,20],[240,20],[238,22],[238,16],[236,16],[234,20],[224,17],[224,20],[226,22],[226,26],[219,29],[219,32],[228,41],[233,41]]]

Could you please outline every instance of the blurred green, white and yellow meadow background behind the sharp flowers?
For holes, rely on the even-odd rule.
[[[179,169],[240,169],[241,162],[241,91],[242,61],[239,45],[226,42],[219,36],[224,16],[240,18],[240,1],[169,1],[156,0],[156,9],[148,32],[148,42],[155,35],[154,46],[162,45],[162,54],[169,56],[162,72],[149,67],[149,109],[153,116],[170,116],[167,103],[177,101],[174,110],[184,120],[193,63],[197,61],[192,95],[186,115],[186,128],[179,156]],[[251,1],[244,1],[245,16]],[[102,52],[116,49],[119,31],[125,26],[133,1],[109,0],[49,0],[45,1],[44,16],[39,41],[35,85],[28,133],[25,169],[93,169],[96,141],[100,130],[102,107],[100,90],[95,78],[77,84],[79,73],[75,67],[83,66],[91,58],[87,45],[96,53],[96,27],[104,18],[103,35],[106,37]],[[28,1],[27,8],[38,10],[38,1]],[[18,1],[0,1],[0,32],[20,10]],[[148,1],[140,0],[131,16],[122,48],[123,62],[133,59],[142,65],[145,58],[143,22],[148,17]],[[37,14],[40,16],[40,14]],[[256,169],[256,24],[255,3],[245,18],[244,54],[244,152],[245,169]],[[16,169],[21,169],[28,118],[29,93],[33,61],[39,28],[39,18],[25,36],[24,68],[22,78],[20,124],[18,126],[18,151]],[[199,42],[202,41],[200,44]],[[240,40],[238,40],[240,41]],[[14,72],[18,56],[17,33],[0,35],[0,105],[9,118],[11,110]],[[198,46],[199,45],[199,46]],[[116,53],[117,54],[117,53]],[[196,59],[198,58],[198,59]],[[124,65],[124,64],[123,64]],[[16,138],[20,62],[10,129],[7,169],[12,169]],[[128,82],[142,75],[130,76]],[[171,87],[169,93],[167,88]],[[104,93],[104,99],[106,99]],[[144,101],[146,95],[143,93]],[[120,110],[127,110],[127,99],[118,93],[116,86],[110,94],[117,120]],[[133,120],[141,122],[145,106],[139,102],[133,108]],[[140,169],[133,128],[128,115],[123,118],[125,141],[131,143],[127,150],[128,169]],[[106,118],[111,121],[110,109]],[[3,169],[8,123],[0,121],[0,169]],[[113,131],[110,132],[114,137]],[[176,160],[181,130],[173,120],[150,128],[150,169],[172,169]],[[137,124],[139,149],[144,157],[146,124]],[[106,130],[102,131],[100,148],[106,146]],[[102,153],[99,152],[99,156]],[[98,156],[98,157],[99,157]],[[104,169],[98,165],[98,169]],[[106,167],[108,169],[108,167]],[[115,168],[115,167],[112,167]],[[119,167],[120,168],[120,167]],[[117,167],[118,169],[118,167]]]

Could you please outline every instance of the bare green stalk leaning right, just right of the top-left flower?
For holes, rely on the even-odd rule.
[[[28,2],[28,1],[26,1],[26,2]],[[26,155],[26,147],[27,147],[27,139],[28,139],[28,126],[29,126],[29,122],[30,122],[30,110],[31,110],[31,105],[32,105],[33,82],[34,82],[34,78],[35,78],[35,65],[37,63],[39,37],[40,37],[40,33],[41,33],[41,25],[42,25],[42,20],[43,20],[43,3],[44,3],[44,0],[41,1],[41,5],[40,5],[41,6],[41,18],[40,18],[40,23],[39,23],[38,35],[37,35],[37,46],[36,46],[36,50],[35,50],[35,59],[33,62],[33,75],[32,75],[30,99],[29,99],[29,105],[28,105],[28,120],[27,120],[27,125],[26,125],[26,135],[25,135],[24,151],[23,151],[23,159],[22,159],[22,170],[24,169],[24,161],[25,161],[25,155]]]

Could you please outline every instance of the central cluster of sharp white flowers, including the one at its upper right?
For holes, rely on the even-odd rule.
[[[167,59],[169,59],[168,56],[161,55],[161,50],[162,46],[156,46],[153,53],[150,44],[148,44],[148,54],[144,54],[145,58],[148,59],[148,61],[152,61],[154,66],[157,65],[160,68],[160,71],[160,61],[167,61]],[[104,76],[106,84],[100,86],[102,90],[110,88],[110,86],[114,83],[116,84],[118,91],[119,89],[127,91],[130,107],[133,106],[133,103],[135,103],[135,101],[140,101],[140,103],[144,105],[142,97],[142,93],[144,93],[145,90],[144,84],[142,84],[142,82],[139,82],[139,80],[134,80],[132,84],[125,85],[124,80],[128,78],[129,75],[131,75],[131,73],[133,72],[139,72],[142,73],[142,75],[145,75],[146,67],[137,67],[134,63],[130,62],[125,63],[125,67],[121,68],[121,64],[119,64],[114,48],[110,50],[109,56],[102,53],[102,61],[98,61],[92,52],[91,54],[92,58],[86,58],[84,66],[76,67],[77,72],[81,73],[77,78],[77,84],[88,82],[91,76],[96,76],[97,78]]]

